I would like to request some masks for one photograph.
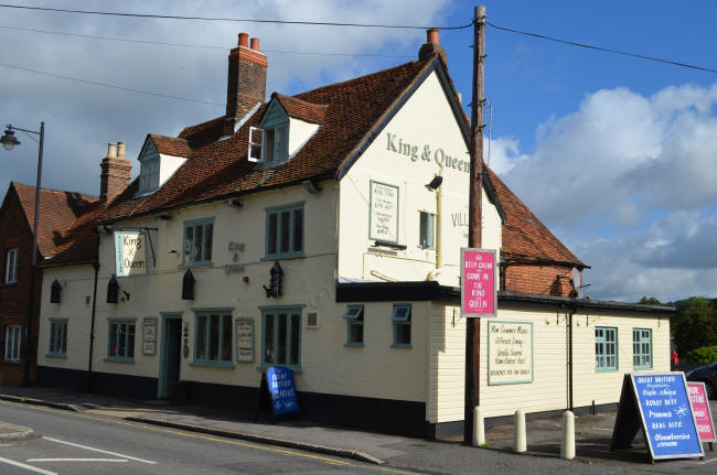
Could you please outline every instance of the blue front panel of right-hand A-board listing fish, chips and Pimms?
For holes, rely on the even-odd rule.
[[[653,460],[704,456],[683,373],[631,375]]]

